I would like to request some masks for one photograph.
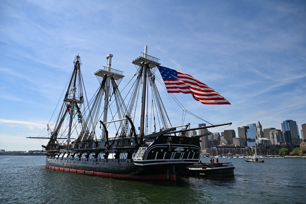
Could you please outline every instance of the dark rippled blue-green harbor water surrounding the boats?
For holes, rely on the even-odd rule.
[[[135,181],[46,169],[45,156],[0,156],[0,203],[305,203],[306,159],[244,159],[219,158],[236,167],[231,178]]]

